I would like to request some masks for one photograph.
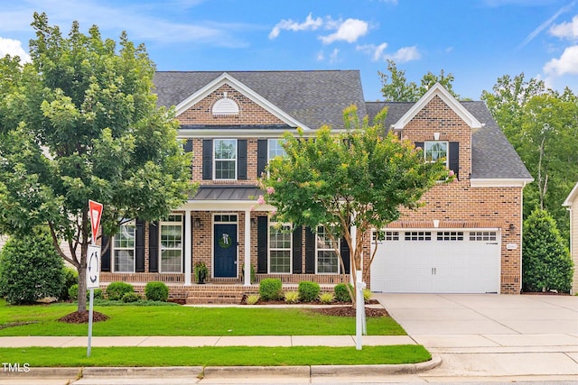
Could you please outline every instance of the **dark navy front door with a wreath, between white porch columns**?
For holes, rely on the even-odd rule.
[[[237,225],[215,224],[215,278],[237,278]]]

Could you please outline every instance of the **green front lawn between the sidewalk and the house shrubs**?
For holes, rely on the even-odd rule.
[[[355,318],[303,308],[94,307],[110,318],[92,335],[355,335]],[[0,300],[0,336],[87,335],[88,326],[58,322],[75,304],[10,306]],[[20,325],[30,323],[27,325]],[[368,317],[368,335],[406,335],[390,317]]]

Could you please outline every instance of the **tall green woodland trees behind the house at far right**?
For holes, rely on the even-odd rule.
[[[499,78],[482,99],[535,179],[524,189],[525,216],[547,210],[567,242],[569,218],[562,202],[578,180],[578,96],[520,74]]]

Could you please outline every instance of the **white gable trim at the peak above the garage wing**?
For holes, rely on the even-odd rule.
[[[392,128],[395,130],[401,130],[406,127],[406,125],[411,122],[415,115],[422,111],[425,105],[431,102],[435,96],[440,97],[443,100],[443,103],[452,108],[452,111],[458,115],[461,120],[468,124],[470,128],[481,128],[482,125],[480,124],[480,121],[476,119],[474,115],[471,115],[470,111],[461,105],[461,103],[455,97],[453,97],[452,94],[450,94],[448,90],[445,89],[440,83],[435,83],[433,87],[428,89],[424,96],[415,102],[415,104],[412,105],[409,110],[407,110],[406,114],[392,125]]]

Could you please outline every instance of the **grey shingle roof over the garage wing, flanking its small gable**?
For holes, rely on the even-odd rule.
[[[368,102],[368,116],[373,119],[387,106],[386,127],[395,124],[414,103]],[[499,129],[483,102],[461,102],[483,124],[471,134],[471,179],[531,179],[514,147]]]

